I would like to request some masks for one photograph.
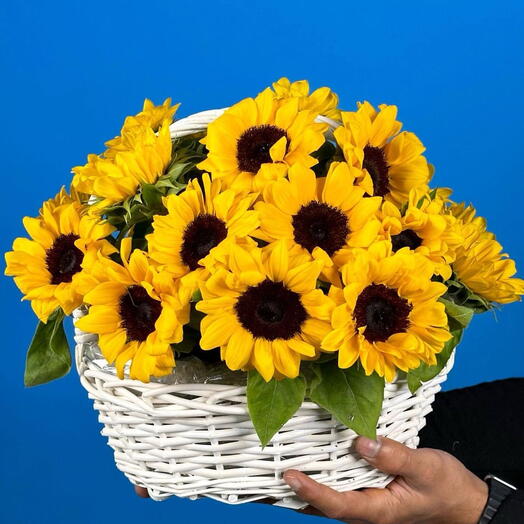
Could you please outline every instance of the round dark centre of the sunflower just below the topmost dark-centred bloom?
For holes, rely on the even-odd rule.
[[[313,251],[322,248],[329,256],[346,243],[349,234],[347,216],[338,208],[321,202],[302,206],[292,219],[295,242]]]

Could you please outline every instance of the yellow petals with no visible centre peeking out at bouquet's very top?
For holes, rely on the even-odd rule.
[[[319,87],[311,94],[307,80],[290,82],[283,77],[273,83],[273,91],[277,100],[298,98],[299,110],[309,109],[316,115],[323,115],[333,120],[340,120],[338,96],[329,87]]]

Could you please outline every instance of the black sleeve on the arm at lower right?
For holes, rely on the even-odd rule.
[[[442,449],[483,478],[524,488],[524,378],[438,393],[420,447]],[[520,521],[524,524],[524,513]]]

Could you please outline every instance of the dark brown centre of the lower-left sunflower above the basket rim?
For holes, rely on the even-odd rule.
[[[142,286],[130,286],[127,293],[120,298],[118,312],[127,340],[143,342],[155,330],[162,304],[151,298]]]

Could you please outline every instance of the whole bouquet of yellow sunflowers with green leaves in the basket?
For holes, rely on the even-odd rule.
[[[524,281],[472,206],[430,187],[397,108],[352,111],[282,78],[172,138],[178,105],[146,100],[24,218],[6,274],[39,324],[25,383],[67,373],[65,316],[119,377],[211,352],[245,377],[266,445],[304,399],[374,437],[385,382],[446,365],[474,313]]]

